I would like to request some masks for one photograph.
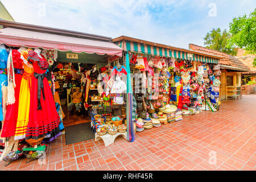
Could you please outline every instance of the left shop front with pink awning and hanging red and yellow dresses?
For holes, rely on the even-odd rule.
[[[11,23],[20,26],[20,23]],[[38,32],[37,26],[25,25],[27,30],[3,26],[0,32],[0,140],[4,147],[0,160],[5,160],[6,166],[24,156],[27,163],[40,158],[45,155],[48,143],[61,135],[64,113],[58,88],[65,87],[67,82],[56,82],[56,78],[61,77],[58,72],[65,72],[63,80],[69,73],[73,75],[69,82],[72,88],[79,84],[90,86],[92,77],[97,78],[95,63],[99,63],[97,67],[101,63],[106,65],[108,59],[122,56],[122,49],[111,43],[111,38],[87,34],[82,35],[90,39],[81,35],[78,38],[74,37],[75,33],[70,36],[70,31],[48,27],[41,27]],[[62,35],[51,34],[53,30],[61,31]],[[72,61],[72,56],[76,58],[80,54],[86,57]],[[79,65],[77,71],[77,64],[70,62],[84,65]],[[90,67],[86,67],[87,64]],[[64,67],[67,69],[63,70]],[[93,95],[90,92],[93,91],[85,92],[84,98]],[[70,103],[74,101],[76,105],[78,95],[81,94],[72,94]]]

